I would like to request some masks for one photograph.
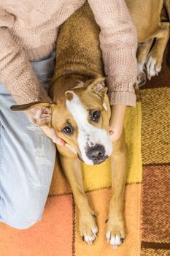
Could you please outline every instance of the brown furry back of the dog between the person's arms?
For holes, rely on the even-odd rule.
[[[55,77],[61,75],[103,75],[99,27],[86,2],[61,26],[56,48]]]

